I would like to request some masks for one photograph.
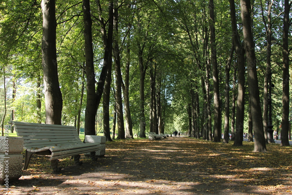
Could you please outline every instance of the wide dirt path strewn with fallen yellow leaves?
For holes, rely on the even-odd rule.
[[[104,158],[66,165],[59,175],[48,172],[49,163],[28,169],[0,194],[291,194],[291,174],[276,175],[207,143],[187,137],[116,142],[107,145]],[[37,159],[48,158],[34,156],[32,163]],[[248,175],[251,170],[258,177]]]

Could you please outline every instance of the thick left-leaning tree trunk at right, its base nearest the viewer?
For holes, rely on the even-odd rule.
[[[248,73],[248,88],[251,104],[251,115],[253,120],[255,144],[254,152],[265,152],[266,142],[263,128],[263,115],[260,107],[260,93],[258,89],[258,75],[256,70],[255,44],[253,42],[253,32],[251,28],[251,2],[250,0],[240,0],[241,20],[243,27],[244,49],[246,51],[246,63]]]

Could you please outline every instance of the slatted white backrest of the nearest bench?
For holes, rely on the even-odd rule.
[[[82,143],[73,126],[16,121],[10,121],[9,124],[14,125],[17,136],[24,138],[25,149]]]

